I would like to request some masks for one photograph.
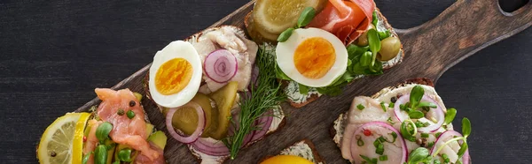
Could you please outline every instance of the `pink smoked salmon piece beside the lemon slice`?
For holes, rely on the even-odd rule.
[[[146,123],[144,109],[129,89],[114,91],[112,89],[96,88],[94,90],[102,101],[97,109],[99,118],[113,124],[109,137],[115,143],[129,145],[140,151],[149,160],[156,160],[162,156],[160,151],[154,150],[146,141]],[[118,115],[118,110],[129,110],[135,113],[133,118]]]

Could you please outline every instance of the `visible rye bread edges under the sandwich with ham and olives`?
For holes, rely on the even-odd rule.
[[[378,16],[378,19],[379,19],[379,24],[378,24],[378,29],[381,29],[384,28],[384,29],[387,29],[390,31],[390,34],[391,34],[391,37],[396,37],[396,38],[399,38],[399,35],[395,33],[395,30],[394,28],[387,22],[387,19],[386,17],[384,17],[384,15],[380,12],[379,8],[375,8],[375,11],[377,11],[377,16]],[[247,13],[246,15],[246,18],[245,18],[245,21],[244,21],[244,25],[246,26],[246,29],[249,29],[249,26],[250,24],[254,21],[253,20],[253,17],[251,17],[251,13],[253,11],[250,11],[249,13]],[[250,33],[256,33],[256,32],[253,32],[253,31],[249,31],[247,30],[247,34],[250,34]],[[260,40],[262,41],[263,38],[261,37],[260,34],[254,34],[256,35],[256,37],[258,38],[254,38],[255,40]],[[274,44],[276,44],[277,42],[273,42]],[[395,56],[395,58],[387,61],[387,62],[383,62],[382,63],[382,67],[384,70],[387,70],[387,69],[390,69],[392,67],[394,67],[396,64],[399,64],[401,62],[403,62],[403,57],[404,57],[404,50],[403,50],[403,44],[401,45],[401,49],[399,50],[399,54],[397,56]],[[287,93],[289,91],[286,91],[286,86],[287,86],[287,83],[285,80],[283,80],[283,82],[281,82],[285,87],[283,87],[283,90]],[[301,101],[301,102],[296,102],[296,101],[293,101],[292,99],[287,99],[286,101],[288,101],[290,103],[290,105],[294,108],[301,108],[301,107],[304,107],[305,105],[309,104],[310,102],[312,101],[316,101],[319,97],[321,96],[321,94],[318,94],[318,93],[309,93],[308,95],[306,95],[306,99],[305,101]]]

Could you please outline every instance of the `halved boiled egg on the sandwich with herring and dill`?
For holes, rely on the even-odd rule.
[[[191,43],[173,41],[153,57],[150,94],[163,107],[176,108],[191,101],[201,83],[201,60]]]

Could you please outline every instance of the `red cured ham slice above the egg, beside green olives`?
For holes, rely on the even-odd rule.
[[[373,11],[375,3],[372,0],[329,0],[309,27],[324,29],[348,45],[371,25]]]

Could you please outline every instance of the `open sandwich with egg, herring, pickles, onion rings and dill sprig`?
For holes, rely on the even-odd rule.
[[[222,163],[282,125],[274,69],[243,30],[211,27],[157,52],[145,89],[173,138],[201,163]]]

